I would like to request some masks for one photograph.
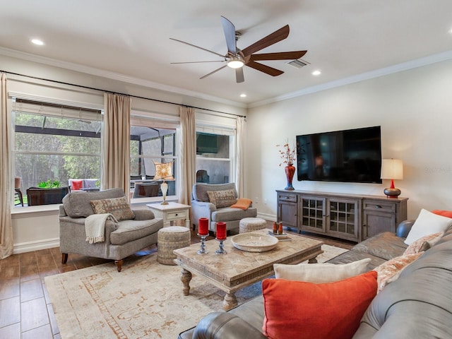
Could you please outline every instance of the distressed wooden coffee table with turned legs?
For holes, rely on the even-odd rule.
[[[254,233],[268,234],[268,229]],[[223,255],[215,254],[219,245],[216,240],[206,242],[208,254],[196,253],[200,244],[174,250],[174,262],[182,267],[184,295],[189,295],[192,274],[197,275],[226,292],[223,309],[227,311],[237,306],[237,290],[274,274],[274,263],[316,263],[316,256],[323,253],[323,242],[297,234],[288,234],[288,237],[290,240],[280,241],[274,249],[266,252],[241,251],[232,246],[229,238],[224,242],[227,254]]]

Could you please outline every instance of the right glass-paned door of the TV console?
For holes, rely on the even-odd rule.
[[[331,237],[357,242],[359,239],[360,205],[358,199],[328,198],[326,233]]]

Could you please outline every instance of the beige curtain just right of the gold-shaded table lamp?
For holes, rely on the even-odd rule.
[[[191,189],[196,181],[196,123],[195,109],[179,107],[181,116],[181,194],[180,203],[190,205]]]

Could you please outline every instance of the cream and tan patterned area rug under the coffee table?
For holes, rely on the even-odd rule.
[[[323,262],[346,251],[323,245]],[[213,311],[225,293],[194,275],[190,294],[182,293],[179,266],[157,263],[157,253],[45,278],[61,338],[174,339]],[[236,293],[239,304],[261,294],[261,283]]]

